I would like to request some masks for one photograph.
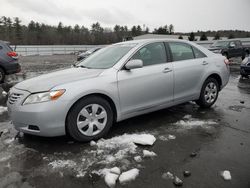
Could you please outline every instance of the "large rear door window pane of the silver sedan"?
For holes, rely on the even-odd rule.
[[[181,42],[169,42],[169,47],[172,52],[173,61],[182,61],[195,58],[192,47],[189,44]]]

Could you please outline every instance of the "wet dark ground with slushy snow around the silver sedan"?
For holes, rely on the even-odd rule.
[[[10,77],[0,93],[13,79],[69,67],[74,59],[22,57],[23,72]],[[238,69],[238,63],[231,66],[230,81],[213,108],[188,102],[131,118],[115,124],[105,140],[91,144],[68,137],[17,135],[6,112],[6,97],[0,94],[0,187],[107,187],[102,169],[117,166],[122,172],[138,169],[139,175],[116,187],[175,187],[178,179],[172,179],[173,174],[183,187],[249,188],[250,80],[242,79]],[[152,146],[124,142],[130,134],[153,135],[156,141]],[[231,180],[221,175],[227,171]]]

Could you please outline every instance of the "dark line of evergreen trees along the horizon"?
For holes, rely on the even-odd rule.
[[[0,40],[10,41],[12,44],[22,45],[83,45],[83,44],[111,44],[131,39],[132,37],[150,33],[145,25],[134,25],[128,28],[126,25],[115,25],[114,28],[104,28],[96,22],[90,28],[84,25],[67,26],[59,22],[57,26],[47,25],[35,21],[30,21],[24,25],[18,18],[2,16],[0,18]],[[200,36],[200,40],[207,40],[208,36],[215,40],[223,37],[242,38],[250,37],[250,32],[239,30],[220,31],[197,31],[191,33],[175,33],[174,25],[165,25],[155,28],[151,33],[165,35],[189,35],[189,40],[197,40],[195,36]]]

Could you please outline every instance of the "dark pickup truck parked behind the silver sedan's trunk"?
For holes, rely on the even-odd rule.
[[[242,45],[240,40],[219,40],[211,45],[210,51],[221,53],[229,58],[241,57],[242,60],[249,55],[249,49]]]

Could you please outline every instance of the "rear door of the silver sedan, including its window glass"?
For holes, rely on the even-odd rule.
[[[209,62],[204,53],[187,43],[167,44],[174,68],[174,100],[189,100],[200,92],[200,80]]]

